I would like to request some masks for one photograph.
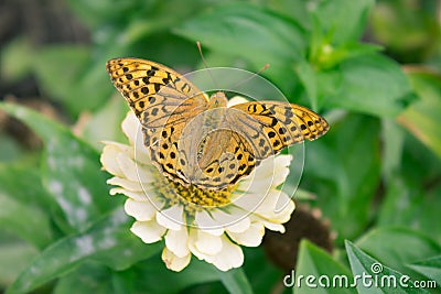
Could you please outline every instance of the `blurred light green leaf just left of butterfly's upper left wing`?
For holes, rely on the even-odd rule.
[[[84,110],[99,109],[110,96],[106,56],[92,58],[89,47],[60,44],[44,46],[36,53],[33,67],[41,87],[73,118]]]

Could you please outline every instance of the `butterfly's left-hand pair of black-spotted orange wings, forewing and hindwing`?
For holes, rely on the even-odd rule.
[[[206,96],[173,69],[150,61],[114,58],[107,72],[143,127],[152,163],[170,179],[187,185],[178,142],[185,124],[206,110]]]

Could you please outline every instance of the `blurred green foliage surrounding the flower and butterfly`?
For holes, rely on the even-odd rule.
[[[32,75],[63,123],[21,106],[0,109],[43,141],[32,151],[0,133],[0,288],[6,293],[291,293],[259,249],[227,273],[193,258],[181,273],[161,243],[129,232],[109,197],[101,140],[121,141],[128,108],[105,63],[133,56],[181,73],[209,66],[257,72],[292,102],[321,112],[330,132],[306,144],[300,188],[316,195],[336,233],[334,254],[303,241],[297,274],[372,272],[433,280],[441,293],[441,29],[438,1],[66,0],[85,44],[1,47],[1,74]],[[270,97],[268,97],[270,98]],[[72,126],[89,113],[78,134]],[[63,183],[60,190],[54,183]],[[84,202],[80,192],[92,202]],[[294,195],[295,197],[295,195]],[[303,200],[306,202],[306,200]],[[299,225],[300,226],[300,225]],[[106,242],[106,240],[117,242]],[[426,293],[417,288],[294,288],[294,293]]]

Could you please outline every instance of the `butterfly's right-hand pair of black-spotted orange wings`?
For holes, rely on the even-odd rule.
[[[249,175],[260,162],[283,148],[323,135],[327,122],[312,110],[276,101],[236,105],[219,111],[222,122],[198,143],[197,167],[186,170],[192,183],[223,189]],[[202,124],[202,123],[200,123]]]

